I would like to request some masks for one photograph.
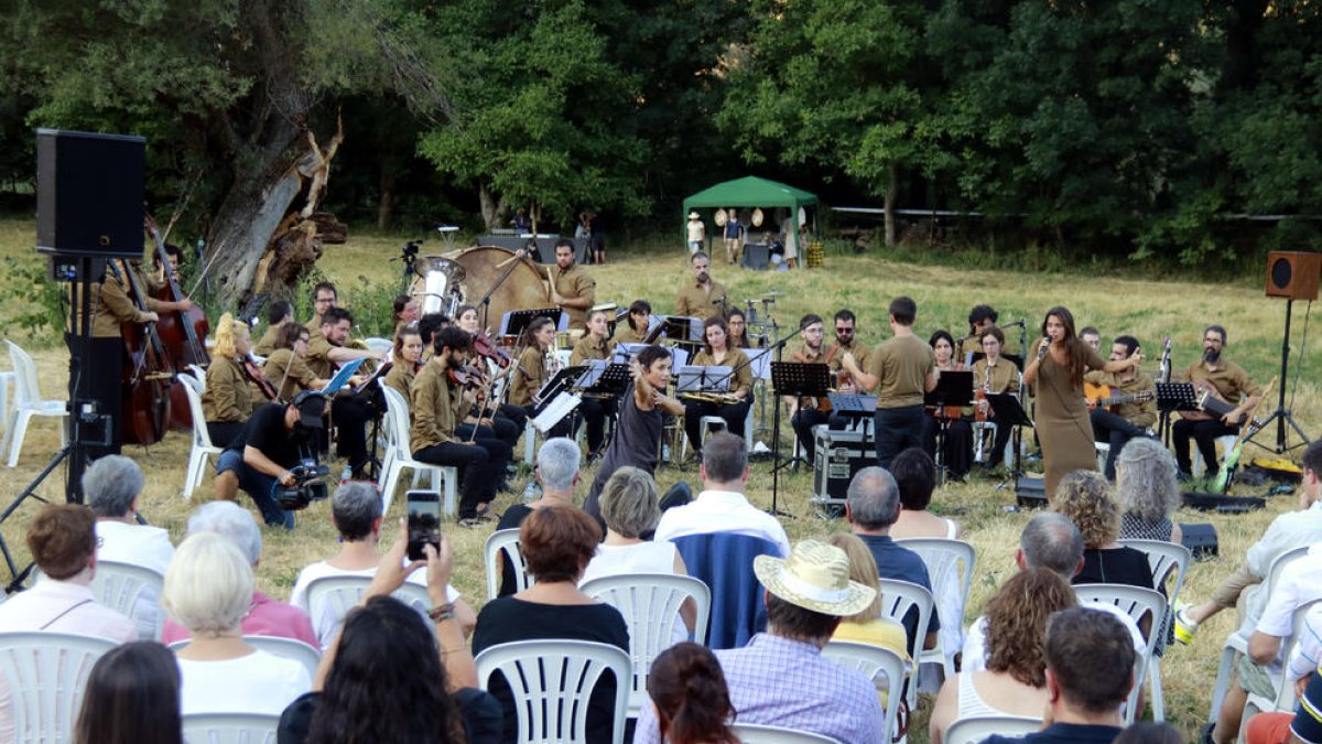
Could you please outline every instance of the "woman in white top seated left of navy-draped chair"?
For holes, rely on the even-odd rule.
[[[641,537],[654,530],[661,519],[657,483],[646,470],[625,465],[611,475],[602,488],[602,519],[605,520],[605,540],[598,545],[579,585],[591,579],[621,573],[689,575],[674,543]],[[685,600],[674,618],[674,642],[689,639],[697,613],[693,598]]]

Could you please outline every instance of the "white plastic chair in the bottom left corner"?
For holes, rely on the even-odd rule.
[[[13,699],[15,740],[66,740],[82,710],[91,667],[118,645],[73,633],[0,633],[0,679]]]

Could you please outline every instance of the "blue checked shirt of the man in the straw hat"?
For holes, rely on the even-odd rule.
[[[886,714],[861,673],[824,659],[812,643],[759,633],[743,649],[715,651],[739,723],[783,725],[845,744],[884,744]],[[642,706],[633,744],[661,744],[656,710]]]

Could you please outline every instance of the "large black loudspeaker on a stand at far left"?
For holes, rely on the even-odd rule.
[[[37,250],[143,257],[140,136],[37,130]]]

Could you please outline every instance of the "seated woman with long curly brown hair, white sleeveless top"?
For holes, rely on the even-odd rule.
[[[1039,718],[1048,703],[1047,618],[1075,605],[1069,584],[1046,568],[1021,571],[1002,584],[988,602],[986,669],[945,680],[928,721],[928,741],[941,744],[945,729],[964,718]]]

